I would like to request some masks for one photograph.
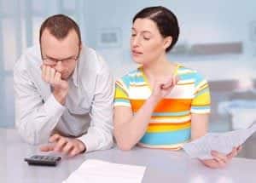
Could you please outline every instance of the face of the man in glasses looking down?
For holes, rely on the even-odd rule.
[[[41,37],[41,54],[43,64],[50,66],[61,73],[61,79],[67,80],[77,64],[81,46],[79,37],[72,30],[67,37],[57,40],[45,29]]]

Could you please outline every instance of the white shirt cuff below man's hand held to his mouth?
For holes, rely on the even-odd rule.
[[[49,117],[61,117],[66,107],[62,106],[53,94],[49,95],[48,100],[44,103],[44,110]]]

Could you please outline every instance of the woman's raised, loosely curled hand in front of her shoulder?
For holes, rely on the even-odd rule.
[[[152,97],[157,100],[164,98],[167,94],[170,94],[178,80],[178,77],[168,77],[166,79],[155,81]]]

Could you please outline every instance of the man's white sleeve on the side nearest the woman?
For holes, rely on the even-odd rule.
[[[96,77],[90,127],[86,134],[78,138],[84,142],[86,152],[105,150],[113,146],[113,88],[113,76],[108,66],[103,64]]]

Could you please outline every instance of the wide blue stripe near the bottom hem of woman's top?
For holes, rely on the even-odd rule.
[[[140,140],[147,145],[172,145],[182,143],[190,139],[191,129],[181,129],[172,132],[146,133]]]

